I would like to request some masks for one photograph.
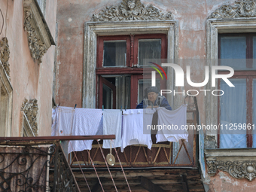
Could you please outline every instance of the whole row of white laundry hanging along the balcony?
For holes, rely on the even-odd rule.
[[[187,141],[186,130],[173,130],[173,125],[181,127],[187,122],[187,105],[169,111],[166,108],[144,109],[96,109],[96,108],[69,108],[57,107],[53,110],[52,136],[79,136],[79,135],[115,135],[112,145],[115,148],[126,148],[128,145],[147,145],[151,149],[152,118],[158,111],[157,142]],[[103,115],[102,115],[103,114]],[[171,127],[172,129],[169,129]],[[155,125],[154,125],[155,126]],[[162,128],[167,127],[164,130]],[[93,140],[72,141],[72,151],[84,151],[92,148]],[[103,148],[110,148],[111,141],[103,140]]]

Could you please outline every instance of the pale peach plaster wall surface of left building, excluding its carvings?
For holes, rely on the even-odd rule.
[[[40,65],[35,63],[29,52],[26,31],[23,29],[23,1],[2,0],[0,8],[5,19],[0,38],[8,38],[11,52],[9,63],[11,85],[14,89],[11,136],[20,136],[20,108],[25,98],[38,99],[38,136],[50,136],[54,46],[44,54]],[[54,38],[56,0],[47,0],[45,19]]]

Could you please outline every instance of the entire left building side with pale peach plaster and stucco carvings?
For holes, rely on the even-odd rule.
[[[1,136],[50,136],[56,1],[1,1]]]

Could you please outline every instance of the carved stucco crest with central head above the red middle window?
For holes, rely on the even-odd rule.
[[[153,5],[144,5],[140,0],[123,0],[120,5],[106,7],[93,14],[90,21],[123,21],[123,20],[172,20],[172,13],[166,14]]]

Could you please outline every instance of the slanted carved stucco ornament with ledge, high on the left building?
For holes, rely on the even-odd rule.
[[[41,58],[51,45],[53,37],[35,0],[23,0],[24,29],[27,32],[29,50],[32,58],[41,63]]]

